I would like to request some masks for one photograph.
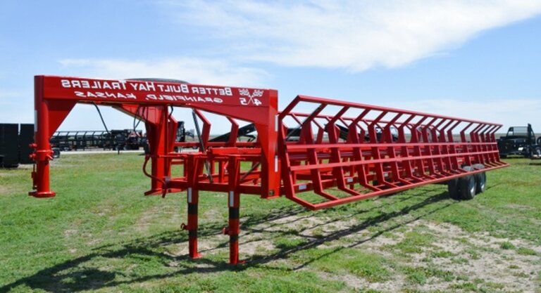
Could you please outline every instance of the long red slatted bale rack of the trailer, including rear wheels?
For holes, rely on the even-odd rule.
[[[332,114],[323,114],[328,108]],[[309,209],[429,183],[447,183],[451,197],[470,200],[485,190],[485,171],[506,166],[499,124],[309,96],[297,96],[279,117],[284,193]],[[294,143],[286,120],[296,126]],[[304,200],[306,190],[323,201]]]

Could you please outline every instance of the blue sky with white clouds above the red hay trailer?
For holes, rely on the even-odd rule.
[[[1,123],[32,123],[32,77],[50,74],[254,86],[278,89],[280,109],[307,94],[541,132],[538,0],[2,0],[0,64]],[[132,126],[102,112],[109,129]],[[175,117],[191,128],[188,114]],[[74,129],[103,126],[77,105],[61,125]]]

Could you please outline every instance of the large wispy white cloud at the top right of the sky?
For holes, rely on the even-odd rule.
[[[225,42],[233,58],[354,72],[406,65],[541,13],[538,0],[161,3],[180,24],[210,29],[201,34]]]

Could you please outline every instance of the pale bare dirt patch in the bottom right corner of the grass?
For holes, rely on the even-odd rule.
[[[344,276],[344,282],[352,287],[382,292],[397,292],[404,287],[413,287],[420,291],[448,292],[466,285],[493,287],[498,292],[539,292],[541,289],[538,281],[541,273],[541,247],[525,240],[492,237],[488,233],[467,233],[447,223],[415,221],[406,225],[406,232],[419,226],[423,226],[425,233],[435,236],[435,240],[430,247],[423,247],[422,252],[409,254],[409,259],[400,256],[394,258],[394,262],[398,267],[418,268],[420,271],[436,268],[459,278],[442,280],[429,277],[423,284],[412,285],[401,275],[400,270],[395,270],[394,277],[387,282],[366,282],[357,280],[359,278],[354,275]],[[381,247],[394,245],[400,239],[402,237],[375,237],[361,248],[389,258],[389,254],[382,252]],[[528,249],[531,253],[521,254],[519,248]]]

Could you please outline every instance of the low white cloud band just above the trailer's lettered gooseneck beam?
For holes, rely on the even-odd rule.
[[[159,60],[64,59],[61,65],[75,75],[125,79],[153,77],[180,79],[192,84],[261,85],[264,70],[232,65],[222,60],[164,58]]]

